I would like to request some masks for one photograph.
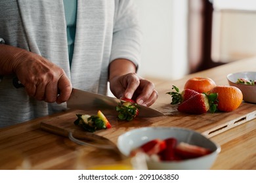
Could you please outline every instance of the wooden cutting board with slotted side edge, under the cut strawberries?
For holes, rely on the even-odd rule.
[[[88,136],[89,134],[94,134],[96,136],[99,135],[100,137],[110,139],[110,141],[116,143],[119,135],[139,127],[186,127],[194,129],[206,137],[213,137],[223,131],[231,129],[232,127],[236,127],[237,125],[244,124],[245,122],[256,118],[256,105],[249,103],[242,103],[239,108],[232,112],[216,112],[214,114],[182,114],[181,112],[178,112],[175,107],[171,107],[171,105],[162,106],[162,108],[158,108],[158,110],[161,112],[165,111],[168,115],[156,118],[135,118],[131,122],[118,121],[117,114],[106,116],[110,124],[112,124],[112,128],[102,129],[95,133],[87,133],[83,131],[83,129],[74,125],[74,121],[77,119],[75,114],[95,115],[96,112],[68,110],[64,114],[42,121],[41,128],[51,131],[52,133],[54,133],[55,129],[51,127],[58,127],[78,135]],[[104,111],[102,112],[104,113]],[[56,133],[58,133],[58,131],[56,131]]]

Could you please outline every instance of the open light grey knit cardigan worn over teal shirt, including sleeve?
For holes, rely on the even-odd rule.
[[[139,63],[141,33],[132,1],[78,0],[71,68],[62,0],[1,0],[0,8],[0,37],[5,43],[62,67],[74,88],[106,94],[110,61],[126,58]],[[0,127],[66,109],[65,103],[28,97],[24,88],[12,86],[12,78],[0,80]]]

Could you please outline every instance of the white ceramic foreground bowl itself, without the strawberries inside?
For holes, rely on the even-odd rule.
[[[169,137],[176,138],[178,142],[187,142],[209,148],[212,152],[200,158],[182,161],[148,161],[148,169],[210,169],[221,151],[221,147],[218,144],[207,139],[202,134],[180,127],[142,127],[134,129],[118,137],[117,147],[125,156],[129,156],[131,150],[148,141],[156,138],[167,139]]]

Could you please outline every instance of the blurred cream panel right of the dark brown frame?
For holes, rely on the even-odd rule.
[[[256,56],[256,1],[213,1],[213,61]]]

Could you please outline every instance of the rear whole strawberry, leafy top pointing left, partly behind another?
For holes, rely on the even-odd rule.
[[[191,89],[185,89],[180,93],[179,88],[177,88],[176,86],[173,86],[173,88],[171,88],[171,89],[174,89],[176,91],[176,92],[167,92],[166,93],[166,94],[171,95],[171,97],[172,97],[171,105],[181,104],[182,102],[186,101],[190,97],[198,94],[198,92],[191,90]]]

